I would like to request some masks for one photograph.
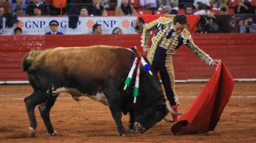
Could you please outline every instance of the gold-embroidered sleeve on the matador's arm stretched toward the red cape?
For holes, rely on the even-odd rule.
[[[186,46],[188,47],[188,49],[194,54],[196,55],[198,58],[200,58],[200,60],[204,61],[205,63],[211,65],[211,62],[213,61],[212,58],[207,55],[202,49],[198,48],[193,39],[190,38],[188,43],[186,44]]]

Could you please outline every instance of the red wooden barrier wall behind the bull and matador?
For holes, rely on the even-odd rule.
[[[224,61],[234,78],[256,78],[255,34],[194,34],[195,43],[212,58]],[[27,80],[22,57],[31,49],[91,45],[137,46],[140,35],[0,36],[0,81]],[[177,80],[209,79],[215,68],[194,56],[186,46],[173,56]]]

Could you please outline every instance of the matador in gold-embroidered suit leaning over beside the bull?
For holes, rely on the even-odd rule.
[[[172,55],[178,48],[185,44],[190,51],[204,61],[206,64],[218,65],[219,60],[212,58],[204,53],[202,49],[195,44],[189,31],[186,29],[187,18],[183,14],[175,15],[173,20],[160,17],[153,22],[148,23],[144,28],[141,36],[141,46],[145,53],[148,52],[147,58],[155,74],[159,71],[164,85],[166,97],[169,100],[174,111],[178,112],[179,99],[175,93],[175,78],[172,64]],[[149,49],[150,31],[155,30],[152,45]],[[173,115],[173,121],[178,120],[177,115]]]

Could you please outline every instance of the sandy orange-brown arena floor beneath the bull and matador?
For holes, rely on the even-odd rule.
[[[177,83],[181,113],[186,112],[205,84]],[[256,82],[235,83],[233,96],[215,131],[207,133],[174,136],[172,123],[163,120],[146,133],[118,137],[116,125],[106,106],[89,98],[84,98],[78,104],[63,93],[51,110],[51,121],[60,134],[58,137],[46,133],[36,107],[37,137],[6,139],[28,130],[29,121],[23,98],[31,92],[29,85],[0,85],[0,142],[256,142]],[[128,116],[123,116],[124,125],[128,120]]]

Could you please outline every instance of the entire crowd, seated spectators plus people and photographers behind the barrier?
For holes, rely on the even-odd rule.
[[[163,15],[180,13],[202,15],[198,20],[197,32],[225,32],[223,22],[218,21],[216,19],[218,16],[214,14],[256,14],[255,7],[254,0],[0,0],[0,22],[1,17],[6,15],[11,19],[13,19],[12,15],[129,16],[143,14],[143,11],[149,11],[149,14],[158,11]],[[237,32],[238,25],[238,32],[254,32],[256,27],[252,18],[240,19],[242,19],[240,23],[234,22],[235,26],[231,27],[233,31]],[[135,30],[138,33],[141,33],[145,24],[142,20],[137,20],[138,25]],[[248,23],[248,20],[251,22]]]

